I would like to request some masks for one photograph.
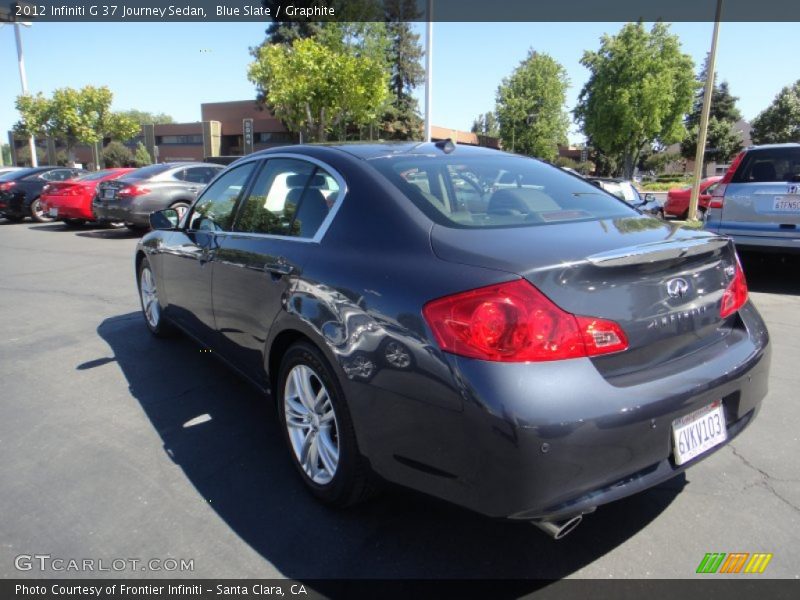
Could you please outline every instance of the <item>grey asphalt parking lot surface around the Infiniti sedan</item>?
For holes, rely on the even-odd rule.
[[[412,492],[347,511],[292,470],[268,399],[141,320],[127,230],[0,220],[0,577],[15,557],[192,559],[185,577],[692,578],[707,552],[800,577],[800,260],[745,257],[773,343],[759,418],[564,540]],[[707,577],[707,576],[706,576]]]

